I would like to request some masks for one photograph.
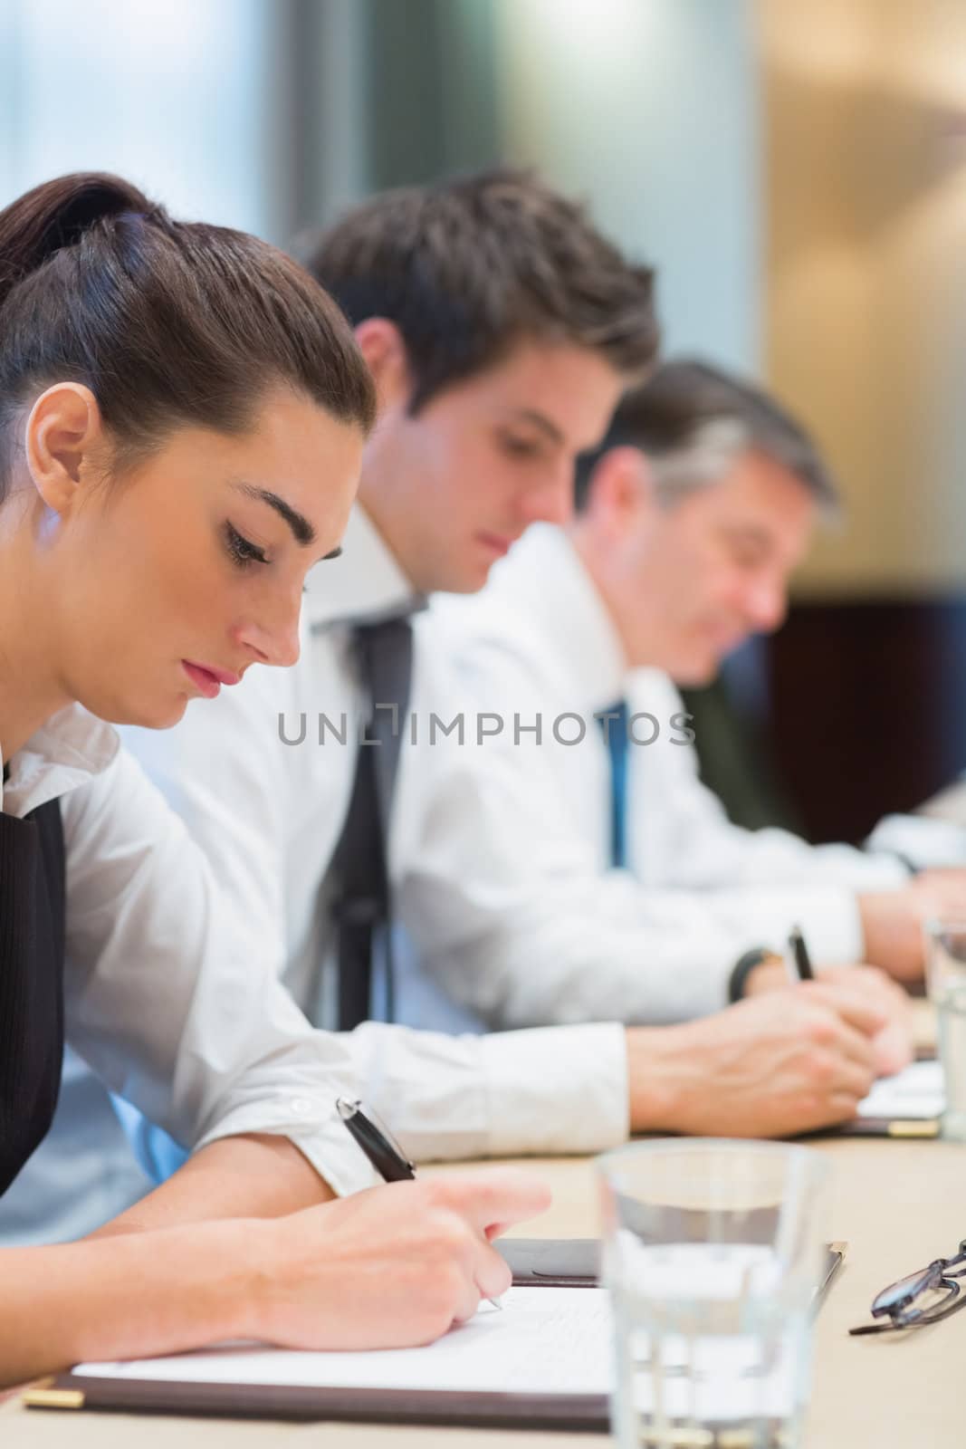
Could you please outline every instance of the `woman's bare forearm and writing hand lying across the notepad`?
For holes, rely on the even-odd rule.
[[[510,1285],[491,1235],[546,1208],[524,1172],[390,1182],[287,1217],[0,1250],[0,1385],[223,1339],[429,1343]]]

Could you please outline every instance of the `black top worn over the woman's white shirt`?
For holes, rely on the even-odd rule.
[[[0,1195],[46,1136],[61,1088],[64,884],[59,801],[23,820],[0,810]]]

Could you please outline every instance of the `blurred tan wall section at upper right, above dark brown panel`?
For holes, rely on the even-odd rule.
[[[799,593],[966,581],[966,4],[762,0],[765,367],[849,527]]]

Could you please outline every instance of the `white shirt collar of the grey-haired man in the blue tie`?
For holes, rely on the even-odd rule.
[[[574,706],[594,713],[623,698],[629,674],[624,649],[569,535],[552,523],[530,525],[494,569],[497,593],[503,593],[504,575],[526,610],[520,617],[549,635],[550,656],[568,661]]]

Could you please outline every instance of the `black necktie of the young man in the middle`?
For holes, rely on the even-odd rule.
[[[355,629],[361,682],[369,700],[369,722],[359,745],[349,811],[333,855],[337,926],[339,1030],[350,1032],[369,1016],[372,948],[377,932],[385,943],[387,1003],[391,1016],[391,893],[388,829],[392,788],[413,675],[413,629],[408,619],[388,619]]]

